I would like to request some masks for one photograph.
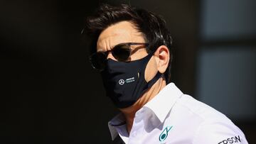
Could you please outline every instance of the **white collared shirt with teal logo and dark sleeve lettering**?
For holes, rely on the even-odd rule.
[[[246,144],[245,135],[223,113],[168,84],[139,109],[130,134],[122,113],[109,122],[112,140],[129,144]]]

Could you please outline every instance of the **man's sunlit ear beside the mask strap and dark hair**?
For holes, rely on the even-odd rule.
[[[154,56],[156,58],[157,69],[163,74],[169,65],[169,49],[166,47],[166,45],[161,45],[159,48],[157,48],[156,52],[154,52]]]

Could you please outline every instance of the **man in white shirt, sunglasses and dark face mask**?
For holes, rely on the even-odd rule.
[[[154,13],[102,5],[87,18],[90,62],[122,112],[109,122],[124,143],[247,143],[222,113],[170,83],[171,35]]]

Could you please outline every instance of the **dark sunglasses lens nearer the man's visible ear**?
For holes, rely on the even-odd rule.
[[[117,45],[112,50],[112,55],[118,61],[125,62],[130,56],[130,48],[128,44]]]

